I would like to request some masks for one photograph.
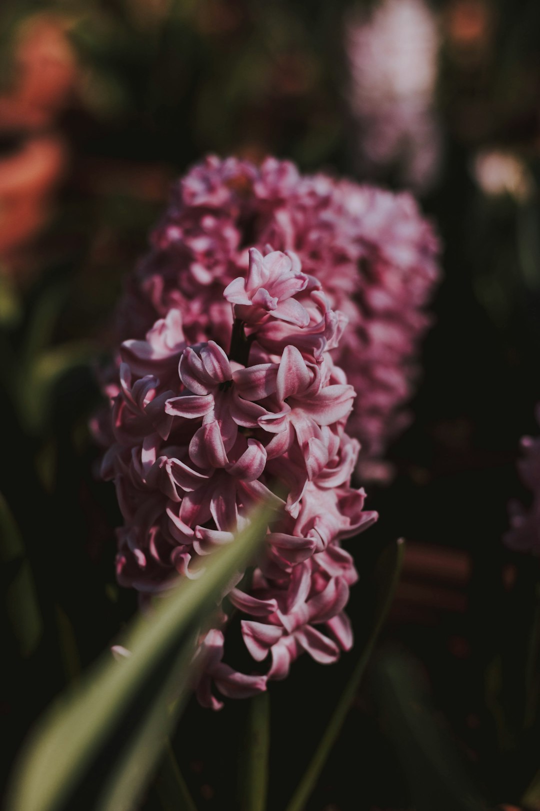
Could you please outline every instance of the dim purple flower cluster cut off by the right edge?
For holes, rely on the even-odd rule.
[[[540,423],[540,406],[537,418]],[[510,504],[510,530],[504,536],[504,543],[516,551],[540,555],[540,438],[524,436],[521,448],[524,453],[518,469],[522,482],[532,493],[532,504],[528,510],[516,501]]]

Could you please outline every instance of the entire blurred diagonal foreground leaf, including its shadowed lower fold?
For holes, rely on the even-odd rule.
[[[192,677],[191,637],[236,573],[253,560],[268,520],[269,509],[259,508],[233,543],[207,559],[200,577],[181,581],[157,601],[151,616],[133,621],[123,642],[129,657],[115,662],[104,655],[80,686],[49,709],[16,770],[11,811],[74,808],[78,789],[85,807],[131,807],[185,701]],[[176,702],[168,712],[175,685]],[[96,781],[100,765],[108,770],[104,787]],[[92,806],[90,791],[100,792]]]

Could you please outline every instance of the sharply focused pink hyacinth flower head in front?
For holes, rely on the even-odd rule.
[[[201,180],[198,188],[195,178],[192,196],[223,198],[221,183],[212,189]],[[220,285],[229,272],[216,270],[222,261],[206,263]],[[198,340],[207,314],[202,308],[193,319],[188,310],[183,324],[181,298],[143,340],[122,343],[114,441],[103,461],[125,522],[118,581],[143,594],[198,576],[197,560],[231,542],[254,505],[266,501],[274,510],[261,561],[233,584],[223,624],[199,651],[198,697],[214,708],[221,706],[215,690],[260,692],[267,679],[287,676],[302,651],[330,663],[351,647],[343,608],[357,574],[340,541],[376,519],[364,511],[364,491],[351,488],[359,443],[345,423],[355,390],[331,355],[343,315],[290,251],[252,248],[247,273],[221,290],[214,333],[227,344]],[[254,675],[223,663],[231,607],[242,617],[245,648],[268,663]]]

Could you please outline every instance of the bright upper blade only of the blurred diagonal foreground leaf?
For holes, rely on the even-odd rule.
[[[182,581],[173,588],[150,618],[134,620],[123,643],[130,657],[115,662],[105,655],[80,687],[64,695],[45,714],[15,774],[10,811],[53,811],[61,807],[77,781],[83,779],[92,759],[125,723],[125,715],[145,682],[159,672],[164,659],[175,658],[185,633],[214,609],[232,577],[253,560],[264,540],[268,520],[269,508],[259,508],[233,543],[208,558],[201,577]],[[147,720],[155,730],[153,718],[149,710]],[[136,743],[133,751],[137,755],[140,751]],[[110,790],[113,792],[113,787]]]

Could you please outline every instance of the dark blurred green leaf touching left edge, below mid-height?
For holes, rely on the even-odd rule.
[[[6,585],[7,616],[19,642],[21,654],[28,656],[39,642],[43,623],[23,539],[2,495],[0,495],[0,560],[2,569],[6,570],[9,567],[12,570]]]

